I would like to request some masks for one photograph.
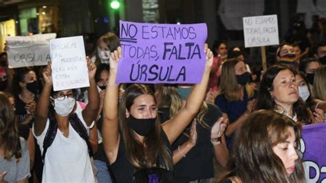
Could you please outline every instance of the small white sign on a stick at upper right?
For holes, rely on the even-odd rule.
[[[277,15],[243,17],[245,47],[279,45]]]

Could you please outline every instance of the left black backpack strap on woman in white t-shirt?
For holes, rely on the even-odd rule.
[[[43,140],[43,153],[42,153],[43,162],[44,162],[47,148],[51,146],[52,142],[54,141],[54,138],[56,138],[57,131],[58,131],[58,122],[56,122],[56,118],[52,117],[50,118],[49,128],[47,129],[45,138]]]

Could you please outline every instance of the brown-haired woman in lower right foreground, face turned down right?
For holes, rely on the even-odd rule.
[[[235,133],[221,182],[305,182],[296,149],[300,139],[300,126],[290,118],[275,111],[255,111]]]

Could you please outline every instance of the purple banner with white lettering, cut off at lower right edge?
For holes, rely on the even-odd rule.
[[[326,123],[303,127],[300,151],[303,153],[306,182],[326,181]]]

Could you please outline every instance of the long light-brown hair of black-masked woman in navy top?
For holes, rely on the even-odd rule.
[[[219,90],[220,94],[224,94],[227,100],[237,101],[241,100],[241,90],[239,90],[239,85],[237,82],[237,76],[235,76],[235,65],[242,62],[237,58],[232,58],[225,61],[222,65],[221,76],[219,78]],[[248,98],[254,96],[254,88],[248,83],[244,86],[248,94]]]

